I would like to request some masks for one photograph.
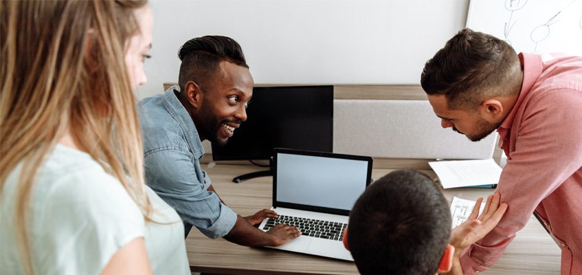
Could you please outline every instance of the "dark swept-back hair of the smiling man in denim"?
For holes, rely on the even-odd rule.
[[[227,36],[208,35],[190,39],[180,47],[178,57],[182,61],[178,76],[181,91],[188,81],[194,81],[201,86],[208,83],[207,81],[220,72],[219,65],[222,61],[249,67],[243,49]]]

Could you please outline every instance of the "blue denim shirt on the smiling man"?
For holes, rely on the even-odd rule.
[[[236,213],[207,190],[210,178],[200,166],[204,148],[175,87],[144,98],[137,106],[144,135],[146,184],[172,206],[188,236],[194,225],[216,239],[234,227]]]

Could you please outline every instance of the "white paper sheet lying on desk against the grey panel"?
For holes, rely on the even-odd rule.
[[[501,167],[493,159],[429,162],[443,188],[497,184]]]

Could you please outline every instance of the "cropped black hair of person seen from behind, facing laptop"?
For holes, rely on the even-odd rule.
[[[361,274],[435,274],[451,235],[440,188],[415,170],[368,186],[350,212],[348,245]]]

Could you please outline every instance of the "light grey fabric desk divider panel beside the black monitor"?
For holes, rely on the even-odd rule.
[[[372,157],[486,159],[497,134],[480,142],[440,126],[427,100],[334,100],[333,151]]]

